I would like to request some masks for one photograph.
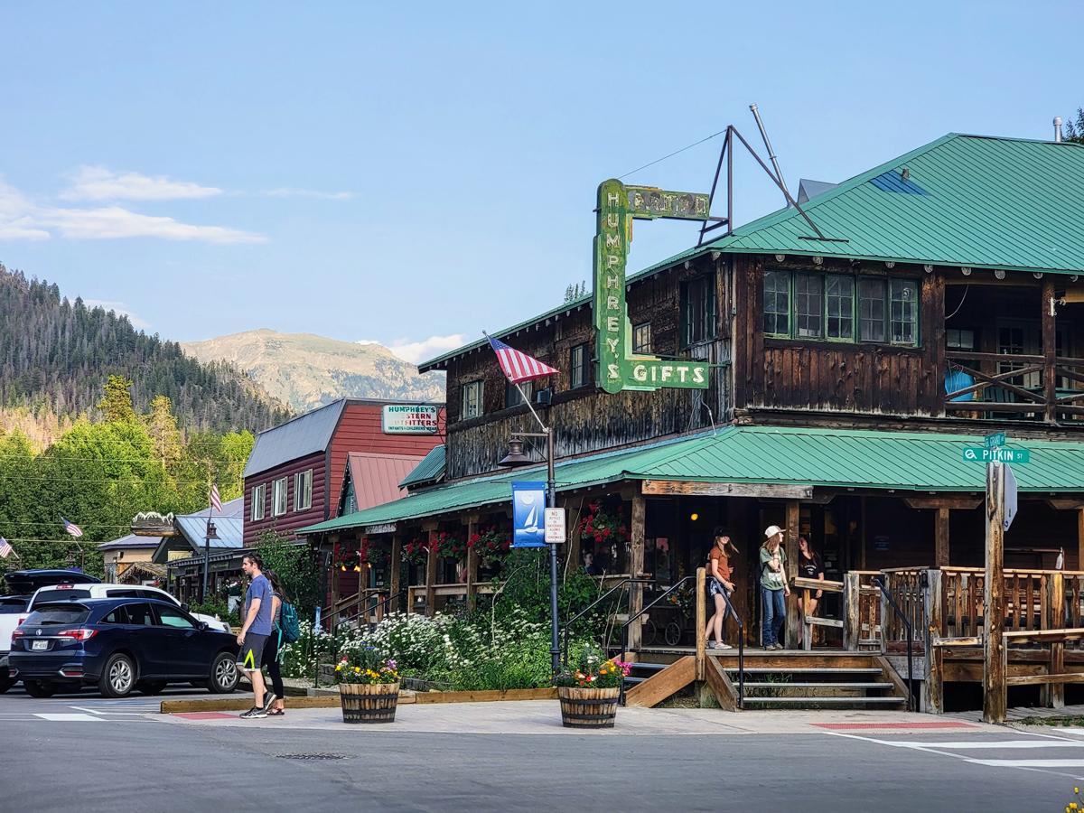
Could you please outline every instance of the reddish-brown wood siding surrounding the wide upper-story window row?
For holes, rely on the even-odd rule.
[[[892,415],[935,415],[944,386],[944,280],[863,268],[863,275],[906,275],[919,283],[919,345],[812,341],[764,335],[764,257],[735,259],[735,406]],[[853,272],[849,263],[772,261],[772,268]]]

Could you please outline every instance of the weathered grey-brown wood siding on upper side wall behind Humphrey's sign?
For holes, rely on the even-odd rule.
[[[633,325],[651,323],[651,352],[661,357],[709,360],[724,366],[712,370],[707,390],[660,389],[655,392],[625,391],[608,395],[593,384],[570,389],[569,354],[573,347],[588,344],[594,356],[591,308],[580,307],[567,315],[550,320],[506,340],[560,373],[552,382],[552,405],[540,411],[543,421],[557,427],[557,455],[611,449],[653,438],[674,435],[722,423],[731,409],[730,307],[725,269],[717,270],[715,299],[718,337],[691,348],[680,347],[681,283],[715,268],[707,260],[688,269],[679,268],[630,287],[629,314]],[[593,364],[589,361],[593,376]],[[483,380],[485,412],[461,421],[462,387]],[[593,382],[593,377],[591,378]],[[546,379],[538,382],[546,386]],[[508,436],[515,430],[534,430],[537,424],[526,405],[505,409],[505,378],[493,352],[483,347],[450,362],[448,370],[448,476],[464,477],[496,468],[507,452]],[[544,451],[540,449],[539,451]],[[538,456],[538,455],[537,455]]]

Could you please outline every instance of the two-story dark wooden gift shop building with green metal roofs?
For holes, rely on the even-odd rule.
[[[607,573],[661,589],[702,566],[723,525],[754,644],[770,525],[789,531],[791,575],[799,534],[840,583],[981,566],[984,467],[963,451],[1006,430],[1031,451],[1014,467],[1006,567],[1084,571],[1082,188],[1082,145],[950,134],[628,276],[632,358],[658,371],[705,362],[707,388],[604,390],[597,281],[594,296],[494,334],[560,371],[529,395],[556,431],[558,498],[577,529],[565,555],[591,552]],[[418,539],[433,551],[441,532],[507,528],[509,481],[544,479],[498,465],[509,436],[535,425],[485,339],[420,370],[448,374],[442,469],[405,499],[301,533],[393,557]],[[627,527],[617,544],[579,530],[598,512]],[[474,601],[478,563],[468,555],[465,583],[451,583],[439,558],[405,577],[413,607]],[[829,596],[825,611],[842,607]],[[801,621],[792,602],[789,646]],[[854,640],[881,628],[870,618]]]

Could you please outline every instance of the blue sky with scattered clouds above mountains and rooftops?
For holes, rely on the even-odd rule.
[[[763,153],[750,103],[795,194],[946,132],[1051,138],[1082,27],[1069,0],[9,0],[0,262],[164,338],[417,361],[590,282],[601,181],[728,124]],[[721,142],[624,180],[707,192]],[[736,160],[736,223],[783,203]],[[697,233],[637,222],[630,273]]]

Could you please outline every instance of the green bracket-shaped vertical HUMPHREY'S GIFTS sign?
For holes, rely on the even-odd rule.
[[[624,299],[624,274],[632,242],[632,219],[705,220],[708,195],[625,186],[610,179],[598,184],[594,257],[595,380],[607,392],[660,387],[707,389],[706,362],[634,356]]]

